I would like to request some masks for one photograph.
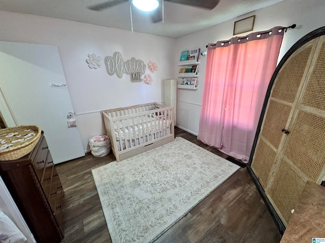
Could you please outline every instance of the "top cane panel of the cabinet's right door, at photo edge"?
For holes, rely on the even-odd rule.
[[[325,110],[325,42],[322,43],[318,53],[302,103]]]

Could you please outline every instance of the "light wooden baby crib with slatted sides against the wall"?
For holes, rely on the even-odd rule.
[[[102,111],[119,162],[174,141],[174,107],[147,103]]]

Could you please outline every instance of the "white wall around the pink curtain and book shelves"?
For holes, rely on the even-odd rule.
[[[278,62],[284,54],[301,37],[314,29],[325,26],[324,0],[284,0],[267,8],[251,12],[222,24],[201,30],[196,33],[180,37],[176,41],[175,60],[179,61],[181,51],[201,48],[206,51],[208,43],[216,43],[230,39],[233,36],[234,22],[255,15],[254,29],[252,32],[271,29],[275,26],[289,26],[297,24],[295,29],[288,29],[284,34]],[[247,33],[238,36],[244,36]],[[199,88],[193,90],[178,90],[177,124],[180,128],[193,134],[198,134],[200,108],[203,93],[206,58],[201,56]],[[177,75],[179,67],[175,68]]]

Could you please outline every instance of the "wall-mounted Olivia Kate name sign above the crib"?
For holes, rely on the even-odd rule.
[[[146,65],[143,61],[137,60],[134,57],[131,60],[123,61],[122,54],[114,52],[113,57],[105,58],[106,70],[109,75],[114,75],[122,78],[123,73],[129,74],[131,82],[142,82],[142,75],[146,71]]]

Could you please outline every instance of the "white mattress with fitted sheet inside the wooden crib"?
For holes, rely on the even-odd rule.
[[[144,120],[143,123],[142,119]],[[121,121],[118,121],[118,125],[117,121],[114,122],[116,141],[120,140],[120,134],[121,140],[137,139],[151,135],[152,133],[164,131],[165,129],[170,128],[170,126],[171,120],[168,118],[163,119],[162,116],[154,116],[153,119],[148,117],[148,120],[143,116],[138,116],[134,119],[127,119],[127,121],[126,119],[123,119],[123,124]],[[118,127],[119,129],[117,129]]]

